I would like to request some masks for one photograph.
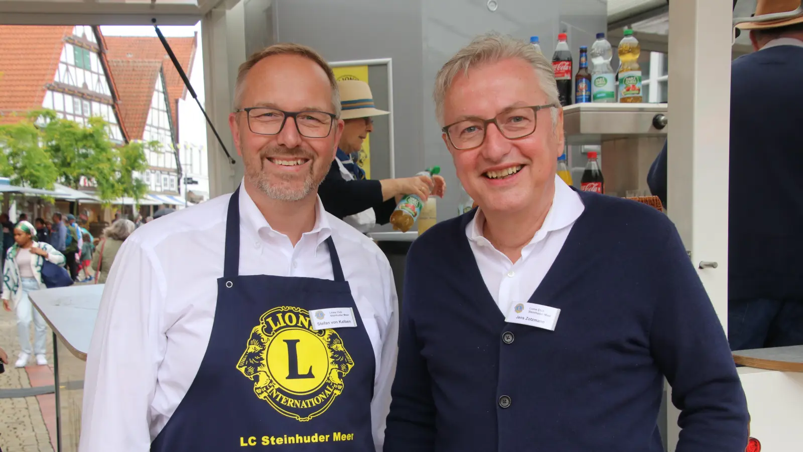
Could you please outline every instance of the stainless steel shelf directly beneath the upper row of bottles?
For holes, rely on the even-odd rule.
[[[666,104],[575,104],[564,107],[564,132],[570,145],[599,144],[617,138],[666,137],[657,129],[656,115],[666,117]]]

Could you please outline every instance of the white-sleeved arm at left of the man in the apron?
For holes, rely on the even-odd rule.
[[[87,353],[81,452],[150,449],[150,405],[166,344],[159,268],[136,236],[112,264]]]

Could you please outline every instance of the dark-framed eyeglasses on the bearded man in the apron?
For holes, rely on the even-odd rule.
[[[301,136],[326,138],[332,133],[332,124],[337,119],[334,113],[316,110],[286,112],[268,107],[248,107],[234,110],[234,113],[240,112],[246,113],[248,129],[259,135],[279,134],[284,128],[287,118],[291,117],[293,122],[296,123],[296,130]]]

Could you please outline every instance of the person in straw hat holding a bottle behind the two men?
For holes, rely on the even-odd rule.
[[[345,125],[336,158],[318,189],[327,212],[360,232],[368,232],[376,224],[390,221],[390,214],[402,195],[414,193],[425,200],[430,194],[442,197],[446,183],[437,175],[434,181],[425,176],[365,179],[365,171],[353,162],[352,156],[361,150],[363,141],[373,132],[373,117],[388,112],[374,106],[371,88],[364,81],[340,80],[337,87]]]

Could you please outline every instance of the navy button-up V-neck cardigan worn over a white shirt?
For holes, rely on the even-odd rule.
[[[560,309],[554,331],[505,322],[466,237],[476,211],[413,242],[385,452],[662,451],[664,377],[681,410],[677,450],[744,450],[728,339],[675,226],[640,203],[581,199],[520,300]]]

